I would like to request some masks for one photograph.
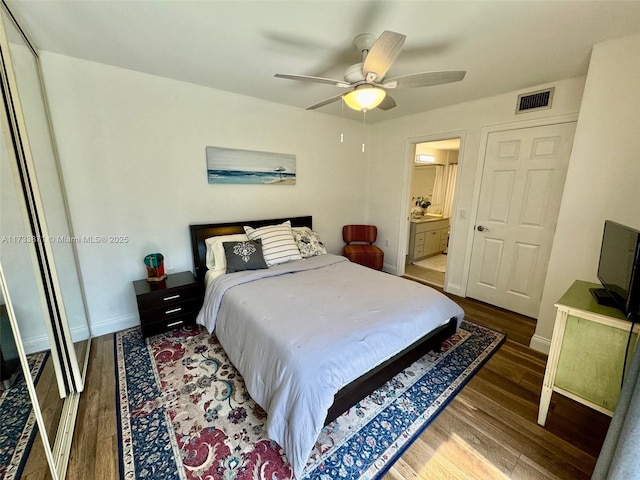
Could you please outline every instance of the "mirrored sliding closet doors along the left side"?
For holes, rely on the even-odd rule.
[[[0,347],[17,353],[38,419],[40,438],[29,440],[33,447],[19,468],[50,468],[53,478],[64,478],[91,335],[37,51],[4,3],[0,18],[0,265],[7,319],[1,338],[15,342]],[[11,335],[5,335],[7,323]],[[19,373],[11,379],[18,385]],[[17,423],[19,412],[11,416],[2,405],[3,425]]]

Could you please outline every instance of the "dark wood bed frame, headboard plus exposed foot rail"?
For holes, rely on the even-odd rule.
[[[245,222],[229,222],[229,223],[207,223],[189,225],[191,235],[191,249],[193,253],[193,263],[195,275],[204,285],[204,275],[207,271],[206,253],[207,248],[205,239],[218,235],[232,235],[234,233],[244,233],[244,225],[253,228],[259,228],[266,225],[274,225],[291,220],[294,227],[312,226],[312,218],[306,217],[290,217],[269,220],[252,220]],[[437,329],[429,332],[427,335],[401,351],[394,357],[381,363],[373,370],[365,373],[357,378],[349,385],[343,387],[334,397],[333,405],[329,408],[325,425],[332,422],[344,412],[353,407],[364,397],[372,393],[374,390],[384,385],[394,376],[407,368],[413,362],[426,355],[429,351],[440,351],[442,342],[453,335],[457,330],[457,319],[451,318],[449,322]]]

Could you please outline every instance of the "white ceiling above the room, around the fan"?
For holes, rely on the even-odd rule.
[[[640,1],[6,2],[41,50],[300,108],[341,91],[273,75],[342,79],[361,61],[360,33],[407,36],[387,78],[467,71],[462,82],[391,91],[398,106],[368,122],[585,75],[594,44],[640,31]],[[341,102],[318,111],[341,115]]]

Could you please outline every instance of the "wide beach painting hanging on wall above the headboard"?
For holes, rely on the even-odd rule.
[[[207,147],[206,153],[209,183],[296,183],[295,155],[222,147]]]

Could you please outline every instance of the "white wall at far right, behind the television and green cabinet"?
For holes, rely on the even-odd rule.
[[[597,283],[606,219],[640,229],[640,34],[594,47],[532,346],[548,351],[553,306]]]

